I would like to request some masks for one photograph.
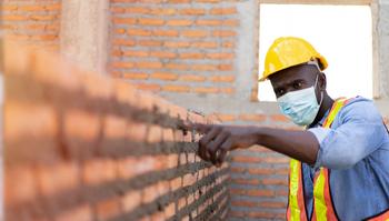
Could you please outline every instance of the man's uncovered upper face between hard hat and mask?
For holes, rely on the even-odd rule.
[[[315,86],[316,78],[318,78],[316,98],[320,98],[319,93],[326,87],[326,77],[315,66],[295,66],[270,76],[269,80],[276,97],[280,98],[288,92]]]

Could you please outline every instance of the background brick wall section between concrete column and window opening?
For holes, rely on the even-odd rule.
[[[114,77],[167,93],[235,93],[238,11],[221,0],[110,0]]]

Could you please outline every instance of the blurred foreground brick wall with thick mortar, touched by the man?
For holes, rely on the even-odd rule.
[[[6,43],[8,221],[225,220],[227,164],[182,120],[215,122],[122,80]]]

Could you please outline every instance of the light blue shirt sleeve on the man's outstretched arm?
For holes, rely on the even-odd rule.
[[[386,130],[382,119],[371,101],[359,101],[345,107],[335,129],[313,128],[319,142],[315,169],[348,169],[371,152],[383,141]]]

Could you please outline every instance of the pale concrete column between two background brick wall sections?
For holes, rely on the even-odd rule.
[[[60,51],[79,67],[106,72],[109,0],[62,0]]]

